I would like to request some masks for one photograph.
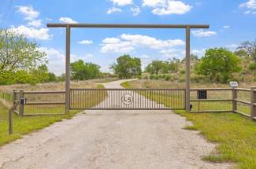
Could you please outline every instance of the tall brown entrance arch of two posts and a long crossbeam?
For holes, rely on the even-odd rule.
[[[185,110],[190,112],[190,32],[193,28],[210,28],[203,24],[47,24],[48,28],[65,28],[65,112],[70,110],[70,31],[71,28],[154,28],[154,29],[185,29],[186,30],[186,90]]]

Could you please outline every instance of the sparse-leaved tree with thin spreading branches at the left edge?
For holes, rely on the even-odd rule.
[[[0,75],[3,72],[32,70],[38,64],[46,64],[46,53],[38,50],[36,42],[13,31],[0,30]]]

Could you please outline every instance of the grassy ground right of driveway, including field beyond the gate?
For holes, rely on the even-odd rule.
[[[123,83],[126,88],[174,88],[163,81],[138,80]],[[198,86],[197,86],[198,87]],[[207,87],[207,86],[200,86]],[[216,87],[216,86],[215,86]],[[147,97],[147,95],[146,95]],[[161,97],[161,96],[159,96]],[[169,103],[163,103],[169,106]],[[204,108],[227,108],[228,105],[212,103]],[[229,105],[230,106],[230,105]],[[242,107],[244,108],[244,107]],[[246,111],[246,110],[244,110]],[[212,162],[236,163],[236,168],[256,168],[256,123],[235,113],[186,113],[175,111],[193,123],[187,130],[200,130],[209,140],[217,142],[216,152],[205,156],[204,160]]]

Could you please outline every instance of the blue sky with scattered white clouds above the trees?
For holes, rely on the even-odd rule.
[[[210,47],[236,50],[256,39],[256,0],[1,0],[1,28],[13,29],[39,43],[51,72],[65,70],[65,29],[46,23],[210,24],[191,30],[191,53]],[[184,30],[72,29],[72,61],[94,62],[109,72],[121,54],[152,60],[184,57]]]

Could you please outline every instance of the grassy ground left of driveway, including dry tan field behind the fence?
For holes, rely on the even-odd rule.
[[[98,83],[98,82],[97,82]],[[72,83],[73,86],[77,88],[102,88],[102,85],[95,84],[95,81],[83,81]],[[25,85],[26,86],[26,85]],[[19,87],[19,86],[16,86]],[[21,87],[21,86],[20,86]],[[30,88],[31,87],[31,88]],[[39,84],[35,86],[22,86],[22,88],[26,90],[62,90],[63,87],[60,83],[46,83],[46,84]],[[5,86],[6,90],[12,90],[13,86]],[[106,94],[101,94],[97,100],[93,99],[95,96],[91,95],[91,100],[84,101],[84,104],[87,106],[94,106],[97,105],[100,101],[102,101]],[[4,145],[9,141],[13,141],[17,138],[21,138],[24,134],[29,134],[32,131],[40,130],[44,127],[50,126],[50,124],[61,121],[62,119],[70,119],[74,116],[78,111],[71,111],[69,115],[57,115],[57,116],[17,116],[13,115],[13,134],[8,134],[8,106],[3,105],[6,103],[4,101],[0,102],[0,145]],[[8,101],[7,101],[8,103]],[[64,105],[25,105],[24,112],[28,114],[32,113],[63,113],[65,112]]]

